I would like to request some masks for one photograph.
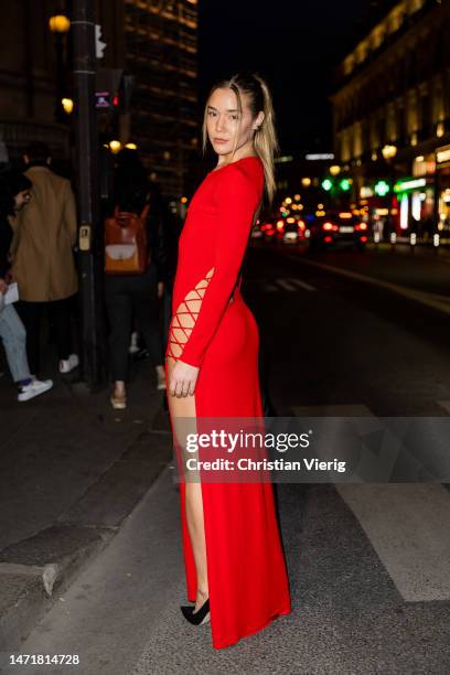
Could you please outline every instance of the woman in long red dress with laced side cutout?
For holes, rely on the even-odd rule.
[[[218,156],[191,201],[179,243],[165,353],[174,447],[202,418],[264,417],[259,333],[239,269],[262,192],[275,191],[277,138],[266,83],[236,75],[206,101],[203,143]],[[226,647],[291,611],[270,482],[180,483],[188,600],[184,617],[211,620]]]

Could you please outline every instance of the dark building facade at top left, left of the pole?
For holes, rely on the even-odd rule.
[[[36,140],[67,157],[69,127],[57,119],[56,96],[64,94],[68,41],[50,29],[54,3],[1,0],[0,9],[0,162],[19,161]]]

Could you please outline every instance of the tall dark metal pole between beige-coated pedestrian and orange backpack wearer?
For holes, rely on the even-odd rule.
[[[78,269],[82,315],[82,372],[90,389],[104,382],[101,258],[99,251],[98,135],[95,111],[94,0],[74,0],[74,83],[78,180]]]

